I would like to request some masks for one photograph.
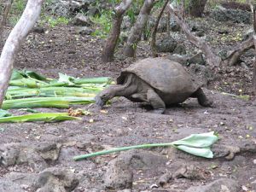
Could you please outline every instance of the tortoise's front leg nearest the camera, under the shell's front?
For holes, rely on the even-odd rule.
[[[154,108],[154,113],[165,113],[166,110],[166,104],[165,102],[160,98],[159,95],[157,95],[154,90],[149,89],[147,93],[147,100],[149,104]]]

